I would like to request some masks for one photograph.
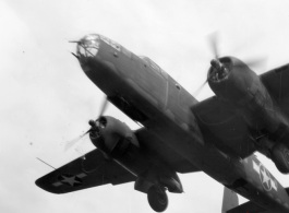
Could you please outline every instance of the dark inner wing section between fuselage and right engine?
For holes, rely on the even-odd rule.
[[[216,96],[194,105],[192,111],[196,116],[205,142],[215,142],[218,147],[234,152],[242,158],[255,151],[244,120]]]

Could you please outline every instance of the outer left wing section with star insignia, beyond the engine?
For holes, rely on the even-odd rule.
[[[136,179],[131,173],[99,150],[94,150],[36,180],[36,185],[52,193],[67,193],[101,185],[120,185]]]

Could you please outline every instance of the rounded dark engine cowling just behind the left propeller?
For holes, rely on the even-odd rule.
[[[111,157],[122,155],[132,143],[140,146],[132,130],[123,122],[112,117],[100,117],[97,129],[89,133],[93,144]]]

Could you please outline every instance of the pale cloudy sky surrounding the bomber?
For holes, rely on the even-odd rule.
[[[257,73],[288,62],[289,1],[265,0],[9,0],[0,1],[0,210],[1,212],[153,212],[133,184],[51,194],[34,185],[81,155],[63,143],[88,129],[104,94],[69,51],[89,33],[103,34],[148,56],[193,93],[213,54],[206,35],[218,32],[221,56],[244,61],[268,57]],[[212,96],[205,87],[198,99]],[[106,111],[137,127],[111,106]],[[93,149],[88,139],[82,153]],[[258,157],[286,187],[288,176]],[[180,176],[184,194],[169,193],[168,213],[220,212],[222,187],[203,173]],[[244,199],[241,199],[242,202]]]

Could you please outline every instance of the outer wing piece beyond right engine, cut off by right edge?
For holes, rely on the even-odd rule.
[[[289,117],[289,64],[261,74],[260,79],[274,100]]]

